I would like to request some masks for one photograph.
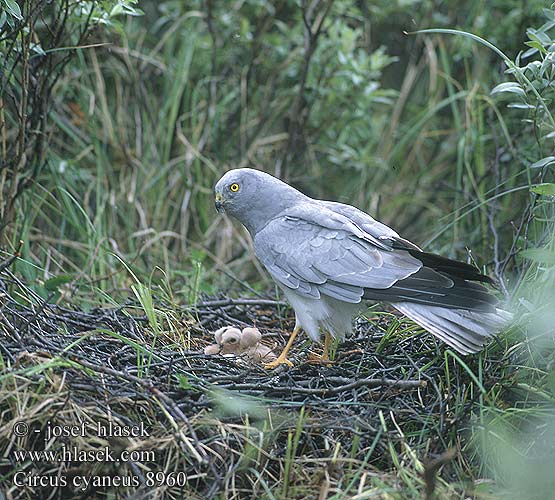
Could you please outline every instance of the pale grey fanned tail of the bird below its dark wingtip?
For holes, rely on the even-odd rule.
[[[499,308],[483,312],[411,302],[392,305],[461,354],[480,351],[512,318],[511,313]]]

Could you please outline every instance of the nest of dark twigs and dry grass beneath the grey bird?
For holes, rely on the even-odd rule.
[[[327,498],[363,492],[375,475],[395,490],[397,460],[429,490],[437,461],[426,458],[441,457],[470,418],[472,397],[450,405],[473,395],[466,372],[452,367],[447,393],[441,348],[392,316],[359,318],[330,366],[306,362],[317,349],[307,340],[293,368],[268,371],[203,349],[226,324],[254,324],[283,346],[294,319],[279,302],[205,298],[153,324],[137,304],[73,310],[41,299],[8,265],[0,273],[7,498]],[[113,435],[135,428],[141,435]],[[64,429],[77,430],[55,435]],[[133,459],[113,461],[124,451]]]

